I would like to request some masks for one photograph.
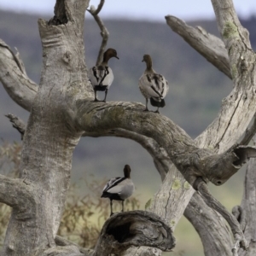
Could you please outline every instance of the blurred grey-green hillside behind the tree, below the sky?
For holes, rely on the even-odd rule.
[[[42,61],[38,18],[0,11],[0,38],[12,49],[17,47],[26,72],[37,83]],[[250,29],[253,28],[254,21],[252,18],[244,20],[243,23]],[[108,101],[144,103],[137,80],[145,69],[143,55],[150,54],[153,57],[154,69],[164,74],[170,84],[166,108],[161,109],[161,113],[183,127],[191,137],[200,134],[216,117],[221,100],[229,94],[232,88],[230,79],[212,67],[164,23],[131,20],[104,22],[110,32],[108,47],[117,49],[119,55],[119,61],[110,61],[114,81],[108,92]],[[218,34],[214,21],[199,20],[191,23]],[[251,34],[255,44],[255,32]],[[88,17],[85,20],[84,39],[86,63],[91,67],[95,64],[101,37],[95,21]],[[28,117],[28,113],[12,102],[3,86],[0,86],[0,137],[4,140],[20,141],[20,135],[11,128],[8,119],[3,117],[5,113],[15,113],[25,120]],[[160,177],[149,155],[131,140],[110,137],[82,138],[74,152],[73,181],[79,183],[81,177],[89,174],[101,179],[118,176],[126,163],[131,165],[137,196],[143,205],[159,188]],[[225,198],[226,207],[231,208],[241,200],[242,175],[239,175],[214,192],[220,200]],[[80,193],[85,192],[81,189]],[[186,256],[202,255],[199,237],[189,224],[184,224],[184,221],[178,224],[176,233],[177,252],[183,251],[181,255]],[[188,241],[186,247],[183,247],[182,241]]]

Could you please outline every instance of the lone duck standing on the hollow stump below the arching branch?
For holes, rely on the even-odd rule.
[[[124,201],[130,197],[134,191],[134,184],[131,180],[131,167],[125,165],[125,177],[111,178],[102,190],[101,197],[108,197],[110,199],[110,216],[113,214],[112,201],[122,201],[122,212],[124,212]]]

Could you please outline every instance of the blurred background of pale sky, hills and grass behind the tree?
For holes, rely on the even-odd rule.
[[[95,6],[98,3],[96,0],[90,1]],[[166,108],[160,109],[160,112],[195,138],[217,116],[222,99],[232,90],[232,82],[172,32],[166,25],[165,15],[176,15],[190,25],[202,26],[218,36],[211,1],[197,0],[195,4],[186,0],[175,3],[159,0],[157,5],[155,3],[136,0],[120,3],[119,0],[109,0],[102,9],[101,17],[110,32],[108,47],[117,49],[119,55],[119,61],[109,61],[114,80],[107,100],[145,103],[137,81],[145,69],[143,55],[150,54],[155,71],[163,74],[170,84]],[[242,25],[250,32],[255,49],[255,2],[236,0],[234,3]],[[12,49],[16,47],[19,50],[26,73],[36,83],[39,83],[42,65],[37,20],[49,20],[53,16],[54,5],[54,0],[0,0],[0,38]],[[101,36],[90,14],[86,13],[85,17],[85,60],[87,67],[92,67],[96,63]],[[24,121],[28,118],[28,113],[9,98],[1,85],[1,145],[20,143],[20,134],[4,117],[6,113],[14,113]],[[131,177],[136,184],[135,196],[139,208],[144,209],[145,203],[160,187],[160,176],[147,152],[137,143],[123,138],[81,139],[73,156],[72,182],[76,183],[76,193],[84,196],[90,190],[84,185],[85,178],[97,180],[102,186],[102,181],[109,177],[122,175],[125,164],[131,166]],[[0,172],[3,172],[3,168]],[[240,204],[243,174],[241,170],[221,187],[210,186],[213,195],[229,210]],[[101,189],[98,189],[99,195],[96,196],[100,197]],[[185,218],[177,225],[175,236],[177,247],[174,251],[177,255],[203,255],[200,238]]]

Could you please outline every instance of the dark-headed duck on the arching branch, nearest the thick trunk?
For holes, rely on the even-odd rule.
[[[88,78],[94,90],[95,102],[106,102],[108,89],[113,82],[113,72],[108,67],[108,61],[110,58],[115,57],[119,59],[115,49],[109,48],[104,52],[103,61],[97,66],[91,67],[88,73]],[[105,91],[105,97],[103,101],[99,101],[96,96],[97,90]]]

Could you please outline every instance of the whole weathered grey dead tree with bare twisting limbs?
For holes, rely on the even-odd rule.
[[[252,187],[246,184],[245,201],[234,210],[235,215],[207,189],[208,182],[224,183],[247,159],[256,156],[255,148],[246,146],[255,133],[255,125],[249,126],[256,110],[255,54],[232,1],[212,0],[223,41],[175,17],[166,17],[174,31],[234,83],[218,117],[195,140],[171,119],[144,113],[141,103],[92,102],[83,42],[88,5],[89,0],[56,0],[55,16],[49,21],[38,20],[43,46],[38,85],[26,76],[19,56],[0,41],[0,80],[9,96],[30,112],[20,177],[0,176],[0,201],[13,208],[1,255],[160,255],[160,250],[174,246],[172,230],[185,209],[201,235],[207,256],[253,255],[246,254],[245,249],[249,253],[254,250],[254,220],[244,217],[254,210],[246,201]],[[90,11],[97,14],[95,9]],[[73,149],[82,136],[137,141],[151,154],[163,179],[160,191],[148,203],[148,211],[113,215],[93,251],[56,236]],[[252,172],[247,172],[252,175],[250,182]],[[251,200],[255,203],[253,196]],[[234,244],[222,217],[230,224]]]

